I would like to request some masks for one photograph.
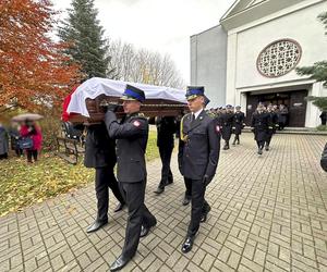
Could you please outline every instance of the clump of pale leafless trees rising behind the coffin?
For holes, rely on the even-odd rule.
[[[147,49],[136,49],[121,40],[108,41],[109,63],[114,79],[183,88],[184,81],[171,58]]]

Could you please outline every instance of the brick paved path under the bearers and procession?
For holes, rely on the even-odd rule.
[[[213,210],[193,250],[181,254],[190,219],[173,158],[174,184],[155,196],[158,160],[148,163],[146,203],[158,219],[124,271],[327,271],[327,174],[324,136],[277,135],[258,158],[251,134],[221,151],[207,200]],[[110,195],[111,196],[111,195]],[[106,271],[120,255],[126,212],[101,231],[93,186],[0,219],[0,271]]]

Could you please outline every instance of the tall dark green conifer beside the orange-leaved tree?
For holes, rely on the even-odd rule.
[[[94,0],[73,0],[69,16],[59,27],[59,37],[69,42],[65,53],[81,64],[82,72],[88,78],[94,76],[108,77],[110,57],[107,55],[104,29],[97,20],[98,11]]]

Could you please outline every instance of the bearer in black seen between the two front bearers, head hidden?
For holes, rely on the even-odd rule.
[[[158,116],[155,120],[157,126],[157,146],[162,163],[161,180],[159,182],[156,194],[165,191],[165,187],[173,183],[173,176],[170,169],[170,160],[174,146],[174,133],[177,131],[177,122],[174,116]]]

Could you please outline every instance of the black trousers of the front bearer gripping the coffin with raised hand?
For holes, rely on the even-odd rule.
[[[145,186],[145,181],[119,183],[119,188],[129,209],[125,243],[122,250],[122,256],[125,258],[132,258],[136,254],[141,226],[150,227],[157,223],[156,218],[144,203]]]

